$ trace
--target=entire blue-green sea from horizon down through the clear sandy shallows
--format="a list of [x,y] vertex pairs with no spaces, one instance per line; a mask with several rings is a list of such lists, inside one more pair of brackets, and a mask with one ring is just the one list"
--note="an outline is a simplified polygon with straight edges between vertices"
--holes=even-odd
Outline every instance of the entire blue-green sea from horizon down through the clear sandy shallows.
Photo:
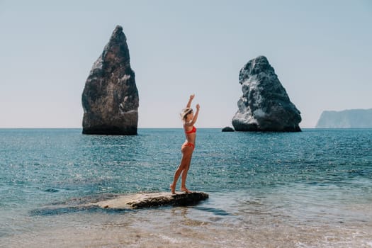
[[169,191],[183,130],[138,133],[0,129],[0,247],[372,247],[371,129],[199,128],[187,186],[208,200],[84,207]]

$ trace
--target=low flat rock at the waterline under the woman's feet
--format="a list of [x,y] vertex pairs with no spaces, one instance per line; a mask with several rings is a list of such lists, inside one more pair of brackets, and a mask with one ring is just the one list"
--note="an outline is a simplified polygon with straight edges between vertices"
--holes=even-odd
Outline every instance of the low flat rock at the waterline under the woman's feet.
[[170,192],[136,193],[100,201],[94,205],[112,209],[151,208],[161,205],[192,205],[208,197],[208,193],[203,192],[177,193],[175,195]]

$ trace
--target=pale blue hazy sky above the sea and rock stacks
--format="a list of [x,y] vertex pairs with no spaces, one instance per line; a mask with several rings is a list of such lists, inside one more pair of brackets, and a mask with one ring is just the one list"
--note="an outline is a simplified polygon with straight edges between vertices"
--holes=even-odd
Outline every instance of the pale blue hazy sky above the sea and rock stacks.
[[372,108],[372,1],[0,0],[0,128],[81,128],[81,94],[123,26],[140,96],[139,128],[232,126],[239,70],[264,55],[300,110]]

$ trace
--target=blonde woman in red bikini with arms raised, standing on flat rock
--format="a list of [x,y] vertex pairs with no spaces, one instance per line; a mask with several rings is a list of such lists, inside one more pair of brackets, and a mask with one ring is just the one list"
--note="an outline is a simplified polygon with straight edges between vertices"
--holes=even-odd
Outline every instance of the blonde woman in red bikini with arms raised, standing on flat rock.
[[187,177],[187,171],[190,168],[191,163],[191,156],[193,155],[193,149],[195,148],[195,139],[196,139],[196,128],[193,126],[196,123],[196,120],[198,119],[198,113],[199,113],[199,104],[196,104],[196,113],[193,114],[193,109],[191,108],[191,101],[193,101],[193,98],[195,97],[195,94],[191,95],[188,99],[188,103],[186,108],[181,113],[182,121],[184,122],[184,130],[186,135],[186,141],[184,142],[184,145],[181,147],[182,152],[182,159],[181,164],[179,164],[179,168],[176,169],[176,172],[174,173],[174,180],[173,184],[170,185],[171,193],[176,193],[176,184],[177,180],[179,179],[179,176],[181,176],[181,191],[184,191],[186,193],[191,193],[186,188],[186,177]]

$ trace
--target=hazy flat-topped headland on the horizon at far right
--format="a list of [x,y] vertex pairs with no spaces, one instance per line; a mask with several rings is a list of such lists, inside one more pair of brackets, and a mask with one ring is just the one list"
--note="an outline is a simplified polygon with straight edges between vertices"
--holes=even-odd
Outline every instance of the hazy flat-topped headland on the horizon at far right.
[[372,128],[372,108],[323,111],[315,128]]

